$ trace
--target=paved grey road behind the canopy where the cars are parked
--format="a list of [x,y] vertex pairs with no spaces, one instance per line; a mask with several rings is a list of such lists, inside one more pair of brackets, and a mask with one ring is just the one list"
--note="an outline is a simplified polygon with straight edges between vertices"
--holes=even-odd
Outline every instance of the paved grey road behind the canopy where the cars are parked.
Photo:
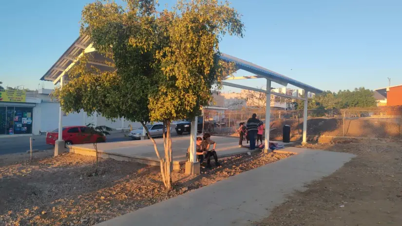
[[[176,132],[172,131],[172,136],[176,135],[177,135]],[[32,146],[34,150],[53,149],[52,145],[46,144],[45,135],[37,135],[33,136],[33,138],[34,141],[32,142]],[[107,142],[128,141],[128,140],[131,140],[131,138],[125,137],[124,133],[122,132],[115,132],[107,137]],[[0,155],[26,152],[28,150],[29,150],[29,136],[0,138]]]

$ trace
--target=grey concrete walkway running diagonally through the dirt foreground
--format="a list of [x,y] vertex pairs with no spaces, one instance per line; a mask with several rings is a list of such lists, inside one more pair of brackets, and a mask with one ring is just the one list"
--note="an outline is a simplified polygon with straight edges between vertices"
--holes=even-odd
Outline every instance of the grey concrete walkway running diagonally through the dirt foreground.
[[341,168],[353,154],[286,148],[297,153],[184,193],[169,200],[141,208],[98,226],[248,226],[268,217],[295,190],[328,176]]

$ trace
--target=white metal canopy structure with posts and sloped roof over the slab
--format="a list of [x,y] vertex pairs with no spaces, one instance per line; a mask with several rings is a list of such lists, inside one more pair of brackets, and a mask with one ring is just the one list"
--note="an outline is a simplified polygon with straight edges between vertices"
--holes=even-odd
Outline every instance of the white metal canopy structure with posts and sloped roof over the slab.
[[[114,70],[113,67],[109,66],[108,62],[112,60],[106,58],[96,52],[96,49],[92,46],[92,42],[88,36],[83,36],[77,38],[77,40],[63,53],[61,57],[58,58],[55,64],[43,75],[40,80],[45,81],[53,81],[54,84],[60,83],[60,86],[63,86],[63,80],[65,80],[65,75],[68,75],[68,71],[74,67],[74,65],[79,61],[80,57],[88,54],[89,58],[89,66],[95,66],[96,68],[106,71],[106,70]],[[268,70],[264,67],[258,66],[246,60],[233,57],[227,54],[221,53],[218,57],[227,62],[233,62],[237,68],[237,70],[245,70],[254,75],[252,76],[237,76],[237,77],[227,77],[222,81],[224,86],[230,86],[245,90],[251,90],[256,92],[266,93],[267,96],[277,95],[281,97],[291,98],[291,99],[300,99],[304,100],[304,117],[303,117],[303,143],[307,141],[307,93],[320,94],[323,91],[307,85],[305,83],[299,82],[295,79],[289,78],[285,75],[281,75],[279,73]],[[265,78],[267,81],[266,90],[248,87],[240,84],[233,84],[228,82],[229,80],[238,80],[238,79],[254,79],[254,78]],[[287,86],[291,84],[293,86],[299,87],[304,90],[304,96],[291,96],[287,94],[279,94],[271,92],[271,82],[278,83],[283,86]],[[270,101],[266,102],[266,125],[270,125]],[[62,140],[62,111],[60,106],[59,111],[59,141]],[[197,163],[197,157],[195,153],[196,149],[196,135],[197,135],[197,117],[191,122],[191,141],[190,141],[190,163]],[[269,150],[269,129],[265,130],[265,149]],[[186,164],[187,167],[187,164]],[[187,169],[186,169],[187,171]]]

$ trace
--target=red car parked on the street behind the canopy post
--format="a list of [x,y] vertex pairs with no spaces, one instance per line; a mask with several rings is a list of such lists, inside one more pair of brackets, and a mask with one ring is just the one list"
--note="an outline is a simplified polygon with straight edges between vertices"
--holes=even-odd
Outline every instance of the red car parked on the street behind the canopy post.
[[[93,134],[92,137],[86,138],[91,134],[88,133],[89,129],[86,126],[66,126],[63,127],[63,140],[66,142],[66,145],[72,144],[86,144],[86,143],[100,143],[105,142],[106,137]],[[58,139],[58,129],[53,132],[48,132],[46,134],[46,144],[55,145],[56,140]]]

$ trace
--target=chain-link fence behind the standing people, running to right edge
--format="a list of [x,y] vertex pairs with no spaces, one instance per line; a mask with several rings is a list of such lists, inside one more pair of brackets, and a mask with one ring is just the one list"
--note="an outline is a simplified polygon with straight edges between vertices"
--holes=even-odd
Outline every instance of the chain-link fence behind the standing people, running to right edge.
[[[348,136],[402,139],[402,111],[375,110],[308,110],[307,135]],[[253,113],[265,120],[262,109],[206,111],[204,120],[209,131],[222,135],[237,135],[241,122],[247,122]],[[303,134],[303,111],[271,109],[270,139],[281,140],[285,125],[290,126],[291,140],[299,140]]]

